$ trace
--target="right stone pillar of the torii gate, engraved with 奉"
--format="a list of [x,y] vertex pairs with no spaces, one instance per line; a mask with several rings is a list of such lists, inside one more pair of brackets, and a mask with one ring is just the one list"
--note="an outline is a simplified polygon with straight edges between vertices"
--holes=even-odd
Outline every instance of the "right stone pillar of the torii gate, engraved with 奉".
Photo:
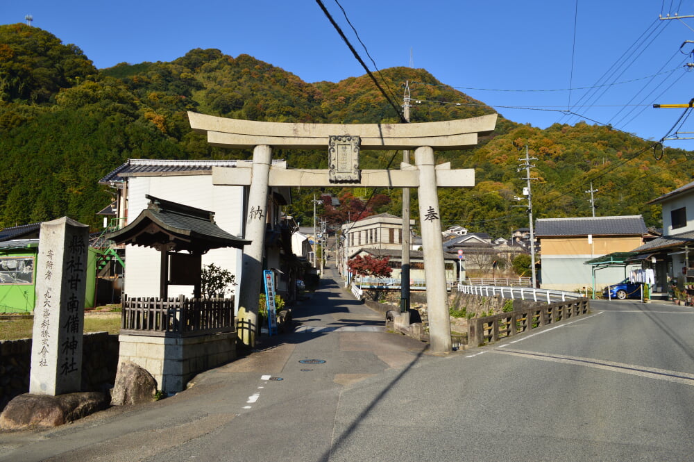
[[427,284],[427,312],[429,315],[429,341],[433,352],[450,352],[450,320],[446,292],[446,269],[441,242],[441,213],[437,194],[434,149],[418,147],[414,163],[419,169],[419,220],[422,231],[424,276]]

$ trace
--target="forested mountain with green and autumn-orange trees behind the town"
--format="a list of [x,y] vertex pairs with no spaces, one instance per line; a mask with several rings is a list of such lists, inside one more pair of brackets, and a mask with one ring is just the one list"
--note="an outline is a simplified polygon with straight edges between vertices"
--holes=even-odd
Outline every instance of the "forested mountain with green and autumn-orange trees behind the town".
[[[489,114],[480,101],[447,86],[425,69],[394,67],[376,74],[401,101],[403,83],[422,101],[412,122]],[[450,101],[461,103],[449,104]],[[368,76],[306,83],[248,55],[194,49],[171,63],[120,64],[96,69],[83,51],[40,28],[0,26],[0,226],[68,215],[99,226],[94,215],[110,201],[98,181],[128,158],[249,158],[251,151],[210,147],[193,133],[186,111],[272,122],[395,123],[398,117]],[[604,126],[555,124],[548,129],[499,118],[496,133],[471,151],[437,152],[455,168],[475,168],[475,188],[439,190],[444,227],[492,236],[527,226],[519,203],[525,185],[518,158],[536,157],[535,217],[643,214],[660,226],[659,208],[645,203],[691,181],[691,152],[666,149],[656,160],[650,144]],[[522,151],[519,151],[522,149]],[[289,167],[327,167],[326,151],[278,151]],[[363,168],[398,167],[398,151],[365,151]],[[400,214],[400,190],[340,190],[361,195],[374,212]],[[294,191],[287,213],[310,223],[316,190]],[[391,202],[383,199],[391,197]],[[413,193],[416,201],[416,194]],[[523,204],[523,203],[521,203]],[[373,205],[373,206],[372,206]],[[416,204],[412,206],[416,215]],[[416,217],[416,216],[415,216]]]

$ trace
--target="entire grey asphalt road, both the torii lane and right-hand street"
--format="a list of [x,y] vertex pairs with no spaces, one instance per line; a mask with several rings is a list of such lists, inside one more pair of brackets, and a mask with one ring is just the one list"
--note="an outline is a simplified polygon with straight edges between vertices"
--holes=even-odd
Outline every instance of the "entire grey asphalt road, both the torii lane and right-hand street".
[[0,434],[0,461],[694,460],[694,310],[592,306],[435,356],[328,283],[296,333],[176,397]]

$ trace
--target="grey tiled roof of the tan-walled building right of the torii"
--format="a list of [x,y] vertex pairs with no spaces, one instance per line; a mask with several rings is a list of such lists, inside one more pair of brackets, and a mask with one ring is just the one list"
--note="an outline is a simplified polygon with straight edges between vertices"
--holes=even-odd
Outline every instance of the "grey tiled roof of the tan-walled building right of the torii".
[[643,235],[648,232],[641,215],[623,217],[541,218],[536,237]]

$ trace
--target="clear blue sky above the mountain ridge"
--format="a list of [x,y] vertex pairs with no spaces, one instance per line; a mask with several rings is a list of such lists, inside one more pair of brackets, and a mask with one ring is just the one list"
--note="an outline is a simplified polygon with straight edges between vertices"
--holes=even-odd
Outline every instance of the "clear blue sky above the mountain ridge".
[[[323,3],[375,70],[335,0]],[[694,74],[685,66],[694,63],[688,54],[694,44],[680,49],[694,40],[694,19],[659,20],[694,15],[692,1],[340,4],[378,69],[413,63],[514,122],[544,128],[587,118],[653,140],[673,125],[694,132],[694,117],[675,124],[683,109],[651,107],[694,97]],[[33,26],[78,45],[99,68],[171,61],[190,49],[217,48],[230,56],[249,54],[307,82],[365,73],[312,0],[0,3],[0,24],[25,22],[28,14]],[[603,86],[586,89],[596,84]],[[694,150],[694,140],[666,145]]]

